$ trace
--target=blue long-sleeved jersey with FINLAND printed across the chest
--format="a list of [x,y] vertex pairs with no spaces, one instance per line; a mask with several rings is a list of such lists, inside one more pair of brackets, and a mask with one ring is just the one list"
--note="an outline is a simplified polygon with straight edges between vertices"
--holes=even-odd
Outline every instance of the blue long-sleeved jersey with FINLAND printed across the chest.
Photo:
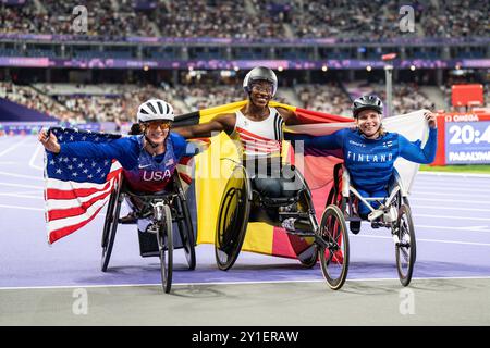
[[411,142],[397,133],[385,133],[378,139],[367,139],[359,132],[348,128],[319,137],[289,135],[287,139],[304,140],[305,148],[342,149],[353,185],[372,192],[385,189],[399,157],[412,162],[431,163],[436,157],[437,129],[430,128],[424,149],[420,148],[420,140]]

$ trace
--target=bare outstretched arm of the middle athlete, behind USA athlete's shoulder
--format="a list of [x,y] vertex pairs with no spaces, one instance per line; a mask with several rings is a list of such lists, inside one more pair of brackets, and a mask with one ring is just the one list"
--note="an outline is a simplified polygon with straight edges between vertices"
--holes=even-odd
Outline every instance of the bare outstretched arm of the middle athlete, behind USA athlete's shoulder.
[[211,137],[217,132],[226,132],[232,134],[235,127],[235,114],[226,113],[213,117],[209,122],[196,124],[192,126],[182,126],[172,128],[186,139]]

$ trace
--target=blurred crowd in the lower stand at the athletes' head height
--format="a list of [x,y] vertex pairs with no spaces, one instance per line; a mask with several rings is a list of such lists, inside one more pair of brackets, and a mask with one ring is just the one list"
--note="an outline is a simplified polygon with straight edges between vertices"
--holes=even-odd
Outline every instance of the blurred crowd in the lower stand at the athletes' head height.
[[[281,89],[282,91],[285,90],[285,88]],[[138,105],[151,98],[170,102],[177,115],[247,98],[242,88],[230,85],[182,85],[179,88],[170,88],[168,85],[160,87],[152,85],[110,85],[107,90],[102,88],[100,91],[99,88],[97,94],[94,92],[90,85],[78,85],[76,90],[73,94],[60,94],[57,88],[49,84],[37,84],[32,87],[0,83],[0,98],[74,123],[134,122]],[[293,95],[289,96],[293,96],[294,98],[287,99],[284,95],[279,95],[274,100],[309,110],[346,117],[352,116],[351,98],[335,83],[297,85],[291,91]],[[385,100],[383,88],[373,86],[372,92]],[[396,85],[393,92],[394,114],[408,113],[419,109],[434,110],[433,102],[420,92],[415,84]]]

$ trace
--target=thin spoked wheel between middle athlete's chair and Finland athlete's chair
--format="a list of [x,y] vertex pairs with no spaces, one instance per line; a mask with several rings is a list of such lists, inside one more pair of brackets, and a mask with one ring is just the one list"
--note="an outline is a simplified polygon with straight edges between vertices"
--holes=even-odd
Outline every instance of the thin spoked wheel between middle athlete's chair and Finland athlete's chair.
[[327,207],[321,216],[320,236],[329,245],[320,247],[320,264],[323,277],[333,290],[340,289],[348,272],[348,235],[345,219],[339,207]]

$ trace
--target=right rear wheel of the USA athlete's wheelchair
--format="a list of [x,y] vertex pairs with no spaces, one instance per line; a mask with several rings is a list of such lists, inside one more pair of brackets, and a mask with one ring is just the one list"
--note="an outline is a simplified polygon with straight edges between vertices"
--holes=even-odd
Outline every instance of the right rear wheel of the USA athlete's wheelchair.
[[193,221],[187,203],[181,196],[175,200],[175,209],[177,215],[182,215],[182,219],[179,219],[177,221],[177,226],[185,252],[185,259],[187,260],[188,269],[194,270],[196,268],[196,241],[194,237]]

